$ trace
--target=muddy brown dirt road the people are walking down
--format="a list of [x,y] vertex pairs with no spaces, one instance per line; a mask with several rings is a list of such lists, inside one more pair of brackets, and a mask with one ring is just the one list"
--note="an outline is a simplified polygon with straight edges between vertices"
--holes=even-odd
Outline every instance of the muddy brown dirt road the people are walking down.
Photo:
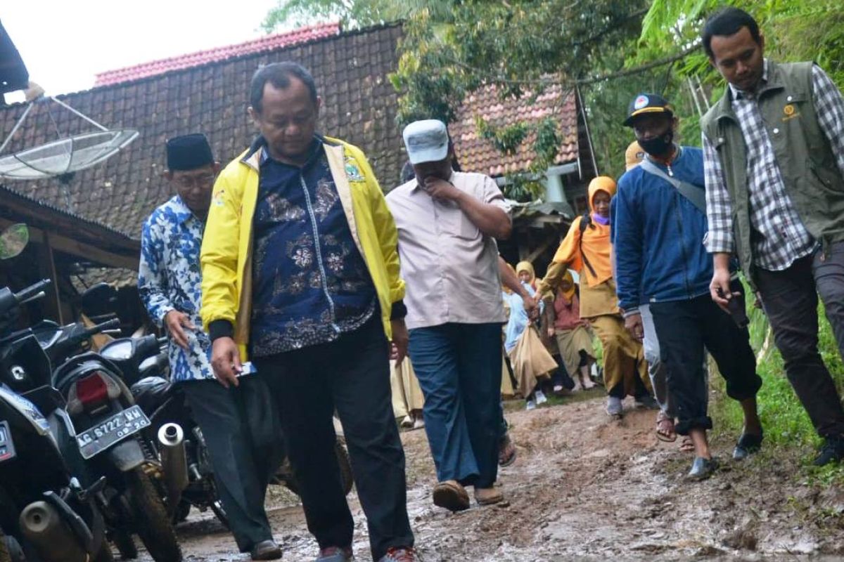
[[[808,484],[798,452],[762,452],[732,463],[732,439],[717,439],[722,470],[684,482],[690,456],[657,442],[654,412],[603,413],[603,400],[507,414],[517,463],[500,474],[506,503],[451,514],[430,503],[435,482],[425,431],[403,433],[408,507],[425,562],[560,560],[842,559],[844,493]],[[625,408],[629,404],[625,403]],[[311,562],[316,544],[295,497],[270,500],[284,560]],[[360,506],[353,501],[354,550],[369,560]],[[188,560],[247,560],[213,517],[194,514],[178,529]]]

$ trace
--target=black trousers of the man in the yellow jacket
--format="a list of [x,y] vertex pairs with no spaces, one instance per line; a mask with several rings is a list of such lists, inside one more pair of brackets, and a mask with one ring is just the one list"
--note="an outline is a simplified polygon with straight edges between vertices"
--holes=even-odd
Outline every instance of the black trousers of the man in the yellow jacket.
[[363,327],[331,343],[253,362],[278,400],[308,530],[320,548],[350,546],[354,532],[334,453],[335,409],[369,526],[372,559],[391,547],[413,546],[381,316],[376,313]]

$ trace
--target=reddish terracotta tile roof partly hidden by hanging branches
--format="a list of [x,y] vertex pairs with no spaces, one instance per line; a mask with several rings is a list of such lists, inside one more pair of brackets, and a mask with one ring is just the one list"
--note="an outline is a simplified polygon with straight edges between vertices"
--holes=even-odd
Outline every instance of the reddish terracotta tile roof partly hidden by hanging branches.
[[495,87],[482,88],[469,94],[457,120],[449,126],[457,160],[463,169],[494,177],[526,171],[536,158],[532,149],[535,135],[528,135],[516,153],[508,156],[500,153],[491,141],[479,136],[477,116],[499,128],[519,121],[536,124],[553,117],[560,124],[558,134],[561,137],[555,164],[577,159],[577,104],[575,94],[569,90],[548,88],[533,100],[529,95],[521,99],[500,99]]

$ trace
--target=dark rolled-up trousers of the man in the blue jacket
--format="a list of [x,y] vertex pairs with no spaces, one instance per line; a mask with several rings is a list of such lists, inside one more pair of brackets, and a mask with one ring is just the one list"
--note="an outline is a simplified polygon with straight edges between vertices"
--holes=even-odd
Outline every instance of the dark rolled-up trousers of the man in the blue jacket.
[[680,435],[712,427],[706,414],[706,350],[727,381],[730,398],[741,401],[756,395],[762,379],[756,374],[748,330],[738,329],[733,318],[709,295],[652,302],[651,313],[666,367],[668,393],[679,420],[675,429]]

